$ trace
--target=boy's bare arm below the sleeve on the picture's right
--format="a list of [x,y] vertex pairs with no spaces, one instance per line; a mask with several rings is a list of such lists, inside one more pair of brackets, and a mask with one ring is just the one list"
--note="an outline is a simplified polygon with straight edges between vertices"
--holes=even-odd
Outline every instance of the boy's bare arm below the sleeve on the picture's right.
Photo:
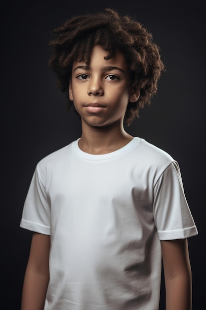
[[192,276],[187,239],[161,241],[166,310],[192,309]]

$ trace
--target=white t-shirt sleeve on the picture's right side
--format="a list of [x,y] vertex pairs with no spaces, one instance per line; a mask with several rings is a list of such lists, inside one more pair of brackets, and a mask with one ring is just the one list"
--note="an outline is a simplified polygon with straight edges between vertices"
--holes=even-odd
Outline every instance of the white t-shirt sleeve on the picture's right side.
[[184,239],[198,234],[176,161],[165,169],[155,184],[153,214],[160,240]]

